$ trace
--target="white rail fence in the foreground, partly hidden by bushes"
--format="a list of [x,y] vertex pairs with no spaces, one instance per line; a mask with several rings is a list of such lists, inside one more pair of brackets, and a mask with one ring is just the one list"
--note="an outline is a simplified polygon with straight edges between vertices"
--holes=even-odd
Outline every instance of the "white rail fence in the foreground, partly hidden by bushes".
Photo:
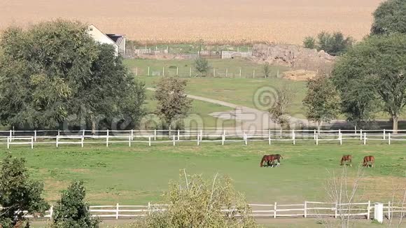
[[[365,218],[370,220],[374,218],[374,205],[370,201],[365,203],[353,204],[337,204],[304,201],[302,204],[250,204],[252,211],[251,216],[254,218],[339,218],[340,216],[349,216],[353,218]],[[125,206],[125,205],[110,205],[110,206],[90,206],[90,213],[94,217],[104,219],[121,219],[121,218],[143,218],[146,215],[167,210],[167,205],[150,204],[146,206]],[[36,218],[52,218],[53,206],[49,211],[45,212],[43,217]],[[231,214],[234,209],[224,209],[225,214]],[[27,212],[25,212],[27,213]],[[388,202],[384,204],[385,217],[403,218],[406,216],[406,204],[394,204]],[[235,216],[239,214],[234,213]],[[32,215],[26,215],[28,218],[33,218]]]

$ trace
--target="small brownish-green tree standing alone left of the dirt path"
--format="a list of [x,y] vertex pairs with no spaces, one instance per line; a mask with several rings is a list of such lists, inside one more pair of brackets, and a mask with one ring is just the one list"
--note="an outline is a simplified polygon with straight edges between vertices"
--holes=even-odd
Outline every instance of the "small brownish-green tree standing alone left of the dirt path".
[[165,120],[169,129],[174,120],[186,117],[191,108],[192,101],[184,93],[186,85],[186,80],[175,77],[162,78],[157,85],[157,113]]

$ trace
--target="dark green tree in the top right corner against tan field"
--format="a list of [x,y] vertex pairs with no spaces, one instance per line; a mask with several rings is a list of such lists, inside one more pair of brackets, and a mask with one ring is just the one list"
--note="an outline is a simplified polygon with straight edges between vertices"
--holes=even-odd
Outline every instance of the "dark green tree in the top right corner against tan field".
[[406,1],[388,0],[382,2],[374,12],[372,35],[406,34]]

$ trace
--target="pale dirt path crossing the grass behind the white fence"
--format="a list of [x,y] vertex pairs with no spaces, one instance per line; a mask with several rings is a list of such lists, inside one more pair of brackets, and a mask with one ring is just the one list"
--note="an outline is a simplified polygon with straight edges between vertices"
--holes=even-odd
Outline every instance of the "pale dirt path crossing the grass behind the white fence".
[[[148,87],[147,90],[155,91],[156,89]],[[269,113],[266,111],[260,111],[255,108],[249,108],[246,106],[239,106],[237,104],[231,104],[225,101],[219,101],[216,99],[209,99],[207,97],[199,97],[195,95],[187,95],[190,99],[195,99],[199,101],[206,101],[211,104],[218,104],[225,107],[232,108],[231,111],[211,113],[210,115],[218,117],[224,120],[236,120],[241,122],[237,127],[237,130],[241,131],[258,131],[272,128],[279,128],[279,124],[275,124],[269,118]],[[300,124],[308,125],[309,121],[305,119],[300,119],[296,117],[290,117],[291,127],[297,127]],[[219,127],[221,128],[221,127]]]

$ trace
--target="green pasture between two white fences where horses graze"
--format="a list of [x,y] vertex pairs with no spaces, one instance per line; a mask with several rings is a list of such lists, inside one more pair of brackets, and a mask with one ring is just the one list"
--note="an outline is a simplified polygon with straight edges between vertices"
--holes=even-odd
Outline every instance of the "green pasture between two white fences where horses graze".
[[[15,146],[10,152],[27,158],[31,176],[45,183],[45,198],[51,202],[59,199],[60,191],[75,179],[85,181],[87,199],[92,205],[158,202],[168,181],[179,178],[180,169],[203,173],[207,178],[216,173],[228,175],[251,203],[323,201],[326,200],[325,180],[329,177],[326,171],[338,171],[343,154],[353,155],[351,176],[365,155],[376,158],[375,169],[363,169],[359,200],[389,201],[393,185],[406,185],[406,154],[402,144],[360,145],[359,141],[342,146],[306,142],[271,146],[263,142],[241,144],[181,143],[133,145],[132,148],[116,144],[109,148],[85,145],[85,148],[59,149],[47,145],[34,150]],[[7,150],[3,147],[1,150],[3,157]],[[283,155],[279,168],[259,167],[262,155],[269,153]]]

